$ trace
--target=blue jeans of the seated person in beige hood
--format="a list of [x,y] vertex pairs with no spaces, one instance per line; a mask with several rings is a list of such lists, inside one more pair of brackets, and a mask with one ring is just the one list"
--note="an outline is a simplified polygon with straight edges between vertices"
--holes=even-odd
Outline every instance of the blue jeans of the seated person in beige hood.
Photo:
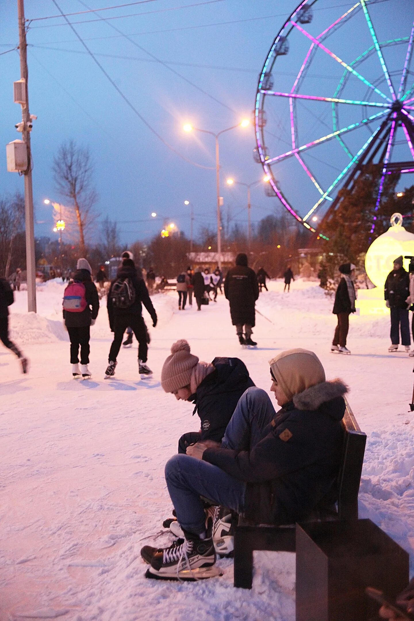
[[[267,392],[248,388],[240,397],[222,441],[222,448],[251,450],[268,433],[275,411]],[[174,455],[165,466],[165,479],[179,524],[199,535],[205,531],[204,505],[200,496],[214,504],[243,512],[246,483],[207,461]]]

